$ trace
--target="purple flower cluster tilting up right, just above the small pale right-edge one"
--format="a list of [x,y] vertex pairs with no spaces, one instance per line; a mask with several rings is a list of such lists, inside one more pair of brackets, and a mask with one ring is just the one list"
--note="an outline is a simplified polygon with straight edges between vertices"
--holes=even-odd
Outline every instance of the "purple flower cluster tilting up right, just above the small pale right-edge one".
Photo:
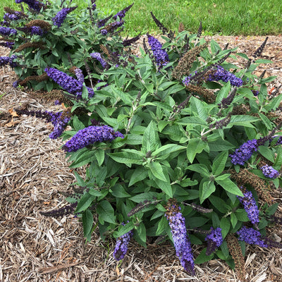
[[243,143],[238,149],[235,149],[233,154],[229,155],[229,157],[231,157],[231,163],[243,166],[245,162],[252,157],[252,153],[257,152],[257,147],[256,139]]

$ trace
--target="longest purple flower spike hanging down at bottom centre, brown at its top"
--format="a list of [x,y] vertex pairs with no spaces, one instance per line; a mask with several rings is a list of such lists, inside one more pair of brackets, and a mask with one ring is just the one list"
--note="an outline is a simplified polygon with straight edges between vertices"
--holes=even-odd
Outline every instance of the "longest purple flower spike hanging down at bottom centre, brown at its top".
[[173,244],[176,248],[176,255],[179,257],[180,263],[189,274],[195,275],[194,258],[190,240],[186,233],[185,218],[180,212],[180,207],[172,204],[166,208],[166,219],[171,227],[171,235]]

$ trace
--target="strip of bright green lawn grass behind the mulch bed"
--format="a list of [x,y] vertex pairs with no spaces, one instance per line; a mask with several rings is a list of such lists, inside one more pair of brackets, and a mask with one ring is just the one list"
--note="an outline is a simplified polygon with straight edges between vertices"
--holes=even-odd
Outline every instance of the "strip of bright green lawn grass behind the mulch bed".
[[[105,15],[117,13],[134,0],[97,0],[96,4]],[[11,6],[14,0],[2,0],[3,7]],[[197,32],[202,21],[205,35],[279,35],[282,33],[281,0],[135,0],[128,11],[125,35],[159,33],[150,16],[150,11],[166,27],[178,30],[183,23],[186,30]],[[85,0],[74,0],[79,8],[85,8]]]

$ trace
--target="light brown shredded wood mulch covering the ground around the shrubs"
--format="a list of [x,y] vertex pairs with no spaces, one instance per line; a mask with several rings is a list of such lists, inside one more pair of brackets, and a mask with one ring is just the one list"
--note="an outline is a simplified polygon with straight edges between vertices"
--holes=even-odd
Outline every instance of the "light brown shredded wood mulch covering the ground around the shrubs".
[[[237,46],[247,55],[264,41],[264,37],[214,39],[221,46],[230,42],[229,47]],[[0,49],[1,56],[7,54],[7,49]],[[281,37],[269,37],[262,58],[274,61],[266,66],[266,75],[278,75],[269,85],[278,87],[282,77]],[[189,276],[168,243],[148,244],[145,249],[131,242],[119,264],[112,256],[115,241],[103,242],[97,229],[91,243],[85,245],[82,223],[77,218],[53,219],[39,214],[67,204],[62,193],[71,192],[74,170],[68,168],[61,141],[49,139],[49,123],[17,116],[13,111],[19,107],[59,111],[60,106],[37,92],[13,88],[15,80],[11,68],[0,67],[0,281],[239,281],[220,259],[195,266],[196,276]],[[282,202],[281,192],[279,188],[271,193],[276,202]],[[282,204],[277,214],[281,216]],[[268,228],[267,235],[281,240],[281,226]],[[201,246],[193,247],[195,256],[201,250]],[[248,245],[245,267],[247,281],[282,281],[281,250]]]

